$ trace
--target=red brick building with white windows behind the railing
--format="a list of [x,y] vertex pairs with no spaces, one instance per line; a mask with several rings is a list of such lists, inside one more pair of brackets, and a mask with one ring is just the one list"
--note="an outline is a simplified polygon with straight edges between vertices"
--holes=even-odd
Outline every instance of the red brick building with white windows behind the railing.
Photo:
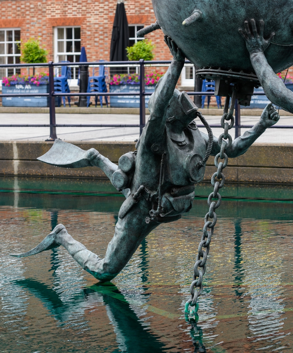
[[[125,9],[130,26],[130,44],[137,41],[137,28],[155,22],[151,0],[126,0]],[[19,62],[17,43],[30,37],[40,39],[48,50],[48,60],[79,61],[80,48],[86,48],[87,60],[110,59],[110,42],[116,0],[0,0],[0,63]],[[155,44],[155,60],[172,56],[163,43],[161,30],[146,36]],[[18,69],[0,69],[1,77]],[[193,68],[184,70],[183,85],[193,85]],[[77,70],[73,70],[77,79]]]

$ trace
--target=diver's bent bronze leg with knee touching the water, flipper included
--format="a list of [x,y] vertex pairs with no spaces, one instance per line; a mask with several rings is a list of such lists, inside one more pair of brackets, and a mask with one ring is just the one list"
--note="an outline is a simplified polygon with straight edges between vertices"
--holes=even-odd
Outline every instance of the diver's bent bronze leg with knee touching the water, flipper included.
[[148,210],[149,204],[145,199],[140,199],[123,219],[118,219],[114,237],[108,245],[104,259],[100,259],[83,244],[74,240],[61,224],[56,226],[52,233],[34,249],[11,255],[25,257],[62,245],[84,270],[98,280],[110,281],[127,264],[144,237],[159,225],[156,222],[145,223]]

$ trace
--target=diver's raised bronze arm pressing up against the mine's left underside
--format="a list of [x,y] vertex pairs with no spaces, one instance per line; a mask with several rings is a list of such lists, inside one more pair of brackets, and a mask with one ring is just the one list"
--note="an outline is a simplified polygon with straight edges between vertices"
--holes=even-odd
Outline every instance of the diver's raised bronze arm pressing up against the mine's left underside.
[[181,50],[177,47],[175,42],[170,37],[165,36],[165,42],[167,43],[173,60],[171,65],[168,67],[167,72],[156,85],[155,92],[150,97],[149,109],[150,118],[148,121],[148,134],[151,133],[153,137],[158,136],[164,131],[166,124],[165,112],[168,103],[174,93],[174,89],[180,77],[182,68],[184,66],[185,58],[181,53]]

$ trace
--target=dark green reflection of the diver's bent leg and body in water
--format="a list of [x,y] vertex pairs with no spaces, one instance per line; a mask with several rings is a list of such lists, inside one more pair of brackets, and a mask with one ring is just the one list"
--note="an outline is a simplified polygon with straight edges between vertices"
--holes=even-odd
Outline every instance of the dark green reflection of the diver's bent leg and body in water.
[[44,283],[33,279],[19,280],[14,283],[28,289],[36,298],[39,298],[59,322],[59,326],[64,325],[70,318],[74,318],[76,322],[77,313],[79,313],[79,321],[84,330],[87,324],[85,318],[81,316],[84,315],[85,310],[94,309],[96,304],[103,303],[106,306],[109,321],[114,326],[120,351],[128,353],[161,353],[165,351],[164,343],[142,326],[124,295],[111,282],[97,283],[87,287],[83,293],[75,295],[74,300],[66,304],[55,291]]

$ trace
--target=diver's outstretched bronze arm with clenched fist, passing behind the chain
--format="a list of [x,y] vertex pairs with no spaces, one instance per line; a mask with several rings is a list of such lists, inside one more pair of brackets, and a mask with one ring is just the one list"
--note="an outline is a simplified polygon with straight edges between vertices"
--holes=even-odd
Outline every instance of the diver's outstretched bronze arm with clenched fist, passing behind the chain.
[[[248,148],[253,144],[253,142],[265,132],[266,128],[276,124],[280,119],[276,108],[272,106],[272,103],[269,103],[263,110],[262,115],[260,116],[259,122],[257,122],[250,130],[246,131],[242,136],[237,137],[232,141],[231,147],[225,149],[225,154],[229,158],[235,158],[244,154]],[[203,138],[208,143],[208,136],[204,133],[201,133]],[[220,146],[218,144],[217,137],[214,136],[213,146],[211,156],[216,156],[220,152]]]

